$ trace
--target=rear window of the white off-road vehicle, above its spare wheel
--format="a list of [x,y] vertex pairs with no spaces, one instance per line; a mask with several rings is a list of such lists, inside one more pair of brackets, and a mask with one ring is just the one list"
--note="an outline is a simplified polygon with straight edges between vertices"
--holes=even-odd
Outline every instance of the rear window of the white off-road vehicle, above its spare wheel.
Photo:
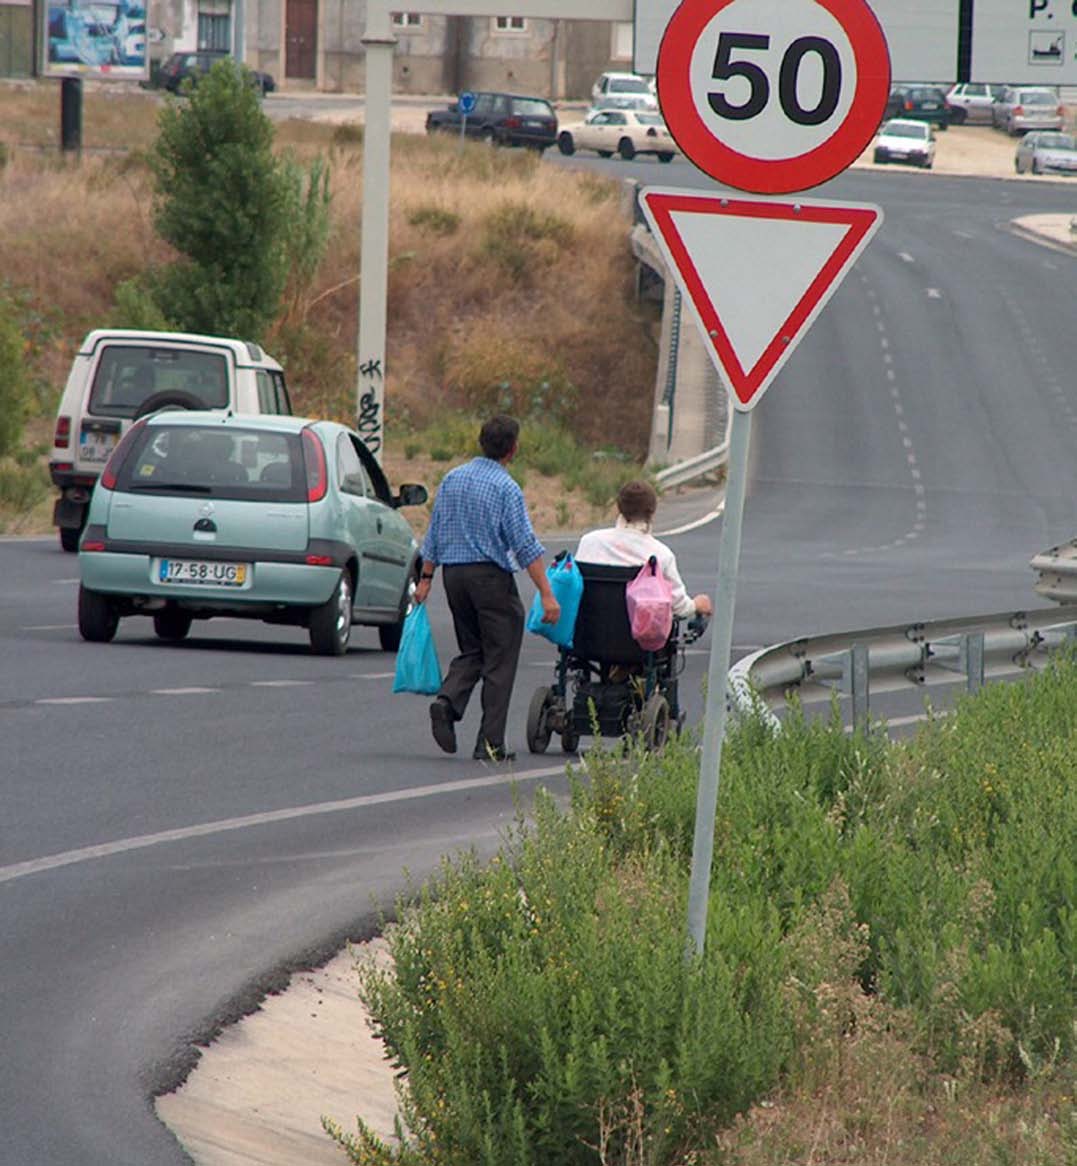
[[177,395],[174,403],[188,408],[225,408],[228,366],[224,353],[110,344],[93,374],[90,412],[105,417],[133,417],[152,396],[162,393]]

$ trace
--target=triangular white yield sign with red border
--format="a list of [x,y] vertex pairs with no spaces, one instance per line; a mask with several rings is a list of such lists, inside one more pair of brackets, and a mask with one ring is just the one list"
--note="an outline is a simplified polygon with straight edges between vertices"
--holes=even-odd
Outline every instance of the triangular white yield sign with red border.
[[738,409],[755,407],[882,223],[878,206],[648,188],[640,203]]

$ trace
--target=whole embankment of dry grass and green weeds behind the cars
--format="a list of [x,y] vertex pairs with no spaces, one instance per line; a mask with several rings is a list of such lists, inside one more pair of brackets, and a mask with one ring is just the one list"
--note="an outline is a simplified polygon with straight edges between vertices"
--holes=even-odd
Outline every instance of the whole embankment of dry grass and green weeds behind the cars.
[[[212,259],[191,252],[192,230],[204,224],[162,213],[162,182],[181,163],[203,163],[203,177],[212,169],[175,140],[192,104],[135,86],[87,86],[76,161],[57,150],[58,86],[3,89],[0,312],[22,338],[29,391],[21,437],[0,452],[0,531],[50,529],[52,420],[83,336],[101,325],[205,323],[190,309],[206,300],[192,303],[176,282],[177,272]],[[256,136],[259,108],[245,117]],[[260,302],[272,296],[274,310],[248,317],[247,338],[282,360],[297,413],[350,421],[361,127],[269,129],[273,173],[286,176],[287,229],[282,248],[266,258],[286,258],[263,273]],[[543,166],[525,150],[417,135],[394,138],[392,181],[390,478],[436,487],[474,452],[478,419],[502,408],[525,422],[516,469],[536,525],[606,517],[646,455],[657,354],[656,318],[634,295],[619,185]],[[227,305],[209,303],[220,318]]]

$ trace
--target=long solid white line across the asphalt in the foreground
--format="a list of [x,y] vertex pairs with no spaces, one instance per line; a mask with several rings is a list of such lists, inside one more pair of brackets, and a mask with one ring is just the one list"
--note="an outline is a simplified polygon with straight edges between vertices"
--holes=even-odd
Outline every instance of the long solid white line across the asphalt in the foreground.
[[435,798],[439,794],[462,793],[467,789],[488,789],[494,786],[509,785],[513,781],[533,781],[538,778],[561,777],[564,772],[564,765],[555,765],[543,770],[523,770],[520,773],[492,773],[481,778],[438,781],[430,786],[413,786],[410,789],[395,789],[383,794],[362,794],[358,798],[345,798],[340,801],[315,802],[310,806],[267,810],[262,814],[246,814],[242,817],[224,817],[216,822],[200,822],[197,826],[180,827],[175,830],[161,830],[157,834],[140,834],[132,838],[117,838],[114,842],[103,842],[96,847],[80,847],[77,850],[64,850],[57,855],[28,858],[26,862],[0,866],[0,883],[10,883],[16,878],[26,878],[27,874],[40,874],[43,871],[56,870],[58,866],[72,866],[76,863],[86,863],[93,858],[110,858],[113,855],[121,855],[128,850],[145,850],[148,847],[160,847],[167,842],[204,838],[214,834],[226,834],[231,830],[247,830],[252,827],[269,826],[274,822],[291,822],[296,819],[315,817],[321,814],[349,813],[356,809],[364,809],[367,806],[388,806],[393,802],[415,801],[420,798]]

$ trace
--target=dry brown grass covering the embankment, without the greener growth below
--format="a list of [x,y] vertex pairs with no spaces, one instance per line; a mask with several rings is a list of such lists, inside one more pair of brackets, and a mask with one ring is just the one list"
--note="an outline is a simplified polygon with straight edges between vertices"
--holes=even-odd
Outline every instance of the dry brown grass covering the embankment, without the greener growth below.
[[[79,162],[56,149],[58,85],[0,84],[0,288],[22,305],[49,426],[76,345],[115,322],[117,285],[171,258],[153,230],[143,156],[161,101],[136,86],[87,83]],[[277,321],[266,346],[288,370],[297,412],[347,420],[361,133],[309,121],[276,129],[280,148],[328,157],[332,237],[305,302]],[[386,461],[394,478],[397,466],[410,479],[429,470],[432,483],[446,468],[401,464],[408,434],[492,407],[554,417],[585,444],[642,457],[657,322],[634,300],[617,184],[525,150],[407,134],[394,138],[392,182]],[[526,490],[551,526],[596,517],[556,480],[533,473]]]

